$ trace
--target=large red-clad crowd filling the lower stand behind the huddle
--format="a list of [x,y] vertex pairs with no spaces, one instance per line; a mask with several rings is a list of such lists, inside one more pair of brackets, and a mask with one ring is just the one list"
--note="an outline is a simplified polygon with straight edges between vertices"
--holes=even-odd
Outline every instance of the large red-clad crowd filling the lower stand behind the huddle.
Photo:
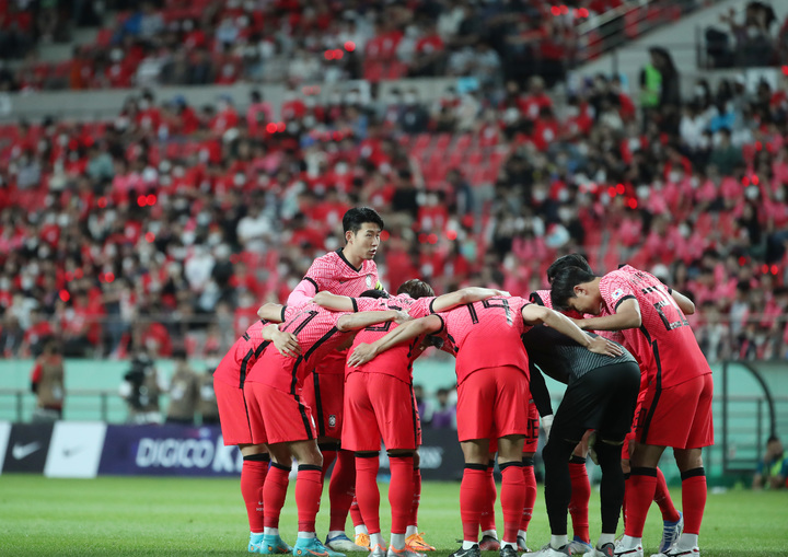
[[420,276],[526,293],[581,251],[688,293],[711,360],[788,357],[785,84],[698,82],[642,121],[636,92],[603,76],[560,109],[538,78],[432,106],[408,89],[293,95],[282,121],[256,93],[243,111],[147,92],[114,121],[4,127],[2,353],[50,335],[67,356],[221,351],[369,205],[391,289]]

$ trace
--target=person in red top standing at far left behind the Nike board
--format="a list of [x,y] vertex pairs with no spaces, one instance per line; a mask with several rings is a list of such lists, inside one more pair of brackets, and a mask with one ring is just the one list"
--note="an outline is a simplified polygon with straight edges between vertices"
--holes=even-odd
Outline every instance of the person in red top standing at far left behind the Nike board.
[[55,338],[44,341],[44,352],[35,360],[31,391],[36,395],[33,421],[55,421],[62,418],[66,374],[62,355]]

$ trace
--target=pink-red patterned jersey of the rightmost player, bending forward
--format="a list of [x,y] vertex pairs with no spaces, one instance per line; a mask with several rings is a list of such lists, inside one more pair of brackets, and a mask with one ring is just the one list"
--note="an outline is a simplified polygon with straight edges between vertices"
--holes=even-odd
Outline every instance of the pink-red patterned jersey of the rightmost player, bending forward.
[[650,385],[667,388],[711,373],[684,313],[657,277],[625,265],[602,277],[600,293],[610,314],[625,300],[640,305],[640,328],[622,333]]

